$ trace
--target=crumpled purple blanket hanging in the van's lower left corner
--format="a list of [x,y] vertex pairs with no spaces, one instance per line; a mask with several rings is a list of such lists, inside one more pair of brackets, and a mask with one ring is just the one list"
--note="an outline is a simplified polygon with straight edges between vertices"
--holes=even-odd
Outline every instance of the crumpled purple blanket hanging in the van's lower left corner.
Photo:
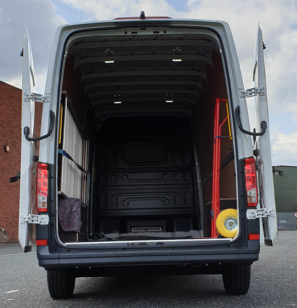
[[58,202],[58,218],[63,231],[80,231],[81,201],[76,198],[61,199]]

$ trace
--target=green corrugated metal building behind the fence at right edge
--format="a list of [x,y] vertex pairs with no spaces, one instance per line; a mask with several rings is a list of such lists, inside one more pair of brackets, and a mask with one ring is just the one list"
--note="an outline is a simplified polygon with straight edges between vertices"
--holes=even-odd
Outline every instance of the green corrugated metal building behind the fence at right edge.
[[278,229],[296,230],[297,166],[273,166],[272,172]]

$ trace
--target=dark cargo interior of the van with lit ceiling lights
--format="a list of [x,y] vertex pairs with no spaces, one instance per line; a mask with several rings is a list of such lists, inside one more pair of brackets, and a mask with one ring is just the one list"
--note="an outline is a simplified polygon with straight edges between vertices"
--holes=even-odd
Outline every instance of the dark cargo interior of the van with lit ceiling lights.
[[[215,34],[195,31],[70,38],[57,112],[61,242],[211,238],[215,102],[228,98],[227,73]],[[227,112],[222,103],[220,123]],[[237,209],[227,123],[220,137],[220,209]]]

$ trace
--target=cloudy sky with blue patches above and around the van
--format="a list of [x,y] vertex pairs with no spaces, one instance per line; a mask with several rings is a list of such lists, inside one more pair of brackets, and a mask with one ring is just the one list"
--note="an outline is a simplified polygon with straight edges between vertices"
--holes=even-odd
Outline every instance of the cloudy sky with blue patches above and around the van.
[[[35,92],[43,93],[55,29],[64,23],[116,17],[170,16],[229,23],[245,88],[252,69],[258,22],[263,31],[272,164],[297,165],[296,0],[0,0],[0,80],[21,87],[22,37],[28,28]],[[248,99],[250,113],[253,98]]]

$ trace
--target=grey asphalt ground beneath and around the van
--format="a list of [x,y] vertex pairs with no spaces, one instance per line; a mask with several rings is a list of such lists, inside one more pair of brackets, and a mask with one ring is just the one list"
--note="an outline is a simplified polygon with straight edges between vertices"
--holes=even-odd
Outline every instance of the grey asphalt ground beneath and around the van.
[[76,278],[74,295],[53,300],[34,252],[0,245],[0,307],[297,307],[297,231],[261,246],[246,295],[227,295],[221,275]]

